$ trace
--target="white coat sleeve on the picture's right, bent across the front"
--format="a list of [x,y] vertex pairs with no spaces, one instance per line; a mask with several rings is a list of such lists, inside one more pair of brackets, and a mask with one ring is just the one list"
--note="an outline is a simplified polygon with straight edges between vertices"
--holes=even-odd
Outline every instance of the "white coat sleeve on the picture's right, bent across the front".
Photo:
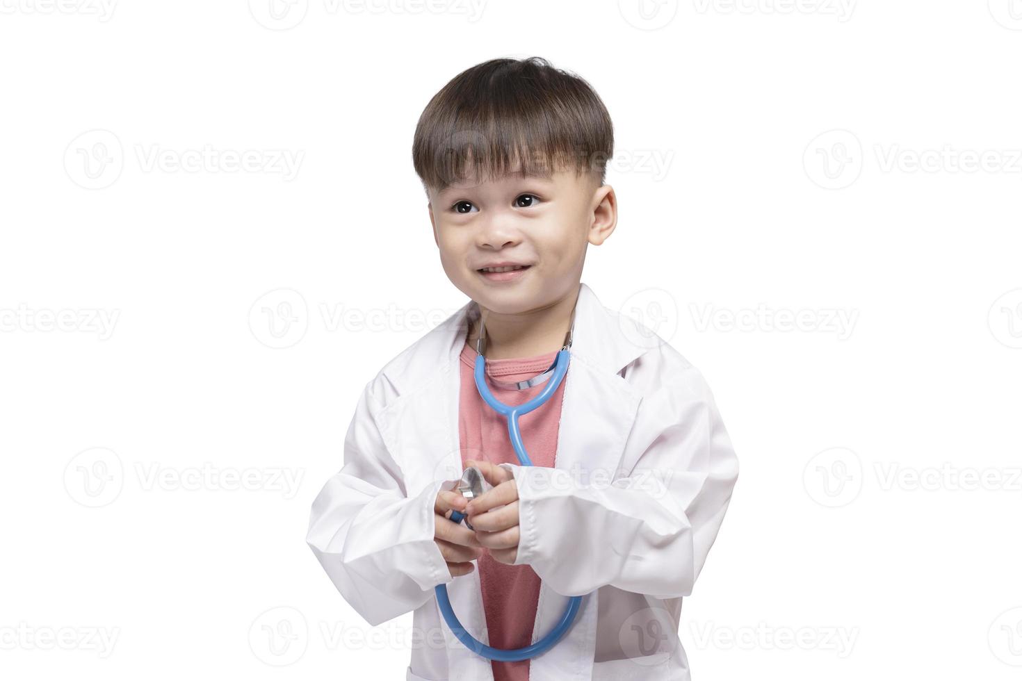
[[565,470],[502,464],[518,488],[514,565],[530,565],[557,593],[610,585],[690,595],[721,528],[738,459],[702,375],[661,348],[644,355],[638,379],[646,385],[625,446],[639,452],[629,477],[582,486]]

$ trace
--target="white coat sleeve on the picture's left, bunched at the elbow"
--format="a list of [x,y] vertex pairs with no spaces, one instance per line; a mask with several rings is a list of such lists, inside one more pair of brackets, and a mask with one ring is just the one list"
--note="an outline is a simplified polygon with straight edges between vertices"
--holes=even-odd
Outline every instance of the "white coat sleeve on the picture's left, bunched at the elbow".
[[444,481],[405,489],[372,385],[344,437],[343,468],[313,501],[306,540],[344,600],[376,626],[422,605],[453,578],[433,540]]

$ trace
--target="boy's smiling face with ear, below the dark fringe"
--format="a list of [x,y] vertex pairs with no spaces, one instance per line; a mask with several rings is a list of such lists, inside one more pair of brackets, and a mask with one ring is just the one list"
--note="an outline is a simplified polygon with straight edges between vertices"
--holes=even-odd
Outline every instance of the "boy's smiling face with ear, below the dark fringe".
[[[573,295],[587,246],[613,232],[617,203],[610,186],[573,169],[509,174],[430,191],[429,220],[448,278],[483,308],[510,314]],[[529,266],[478,272],[497,262]]]

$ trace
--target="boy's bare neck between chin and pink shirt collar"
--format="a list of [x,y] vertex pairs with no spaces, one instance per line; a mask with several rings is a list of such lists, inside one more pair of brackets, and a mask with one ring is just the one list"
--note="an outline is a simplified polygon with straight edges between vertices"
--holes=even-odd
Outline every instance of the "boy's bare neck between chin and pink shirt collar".
[[[543,307],[524,312],[502,314],[479,305],[486,325],[483,355],[486,359],[506,359],[560,350],[571,328],[571,310],[578,300],[579,288]],[[479,321],[474,320],[468,330],[468,342],[473,348],[478,337]]]

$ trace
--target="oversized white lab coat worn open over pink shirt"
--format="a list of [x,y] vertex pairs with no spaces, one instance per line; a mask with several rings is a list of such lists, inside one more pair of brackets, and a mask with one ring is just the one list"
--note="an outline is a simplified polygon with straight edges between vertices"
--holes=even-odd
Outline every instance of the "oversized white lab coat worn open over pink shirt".
[[[414,611],[412,681],[493,680],[490,661],[451,633],[433,591],[447,584],[462,626],[489,643],[478,564],[452,578],[433,541],[436,494],[462,472],[459,353],[474,305],[369,381],[343,468],[309,524],[316,557],[370,625]],[[556,468],[502,464],[518,486],[515,565],[542,579],[531,640],[552,629],[568,596],[584,596],[567,634],[531,660],[529,678],[688,680],[681,601],[724,520],[738,460],[699,372],[584,283],[570,351]]]

